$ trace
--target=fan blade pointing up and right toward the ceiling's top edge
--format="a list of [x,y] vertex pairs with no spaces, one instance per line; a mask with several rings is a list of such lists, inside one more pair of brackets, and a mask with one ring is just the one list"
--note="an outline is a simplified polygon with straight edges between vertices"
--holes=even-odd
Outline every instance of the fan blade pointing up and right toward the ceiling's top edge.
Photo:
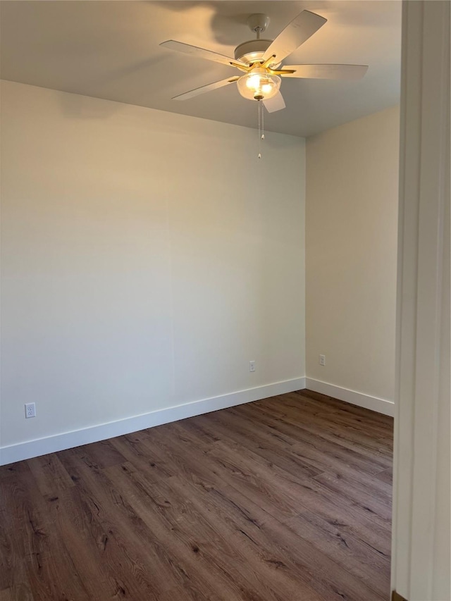
[[302,11],[291,23],[288,23],[271,46],[268,47],[263,60],[266,61],[271,55],[275,55],[276,60],[274,63],[280,63],[285,56],[288,56],[288,54],[299,48],[301,44],[304,44],[326,21],[327,19],[316,15],[316,13]]

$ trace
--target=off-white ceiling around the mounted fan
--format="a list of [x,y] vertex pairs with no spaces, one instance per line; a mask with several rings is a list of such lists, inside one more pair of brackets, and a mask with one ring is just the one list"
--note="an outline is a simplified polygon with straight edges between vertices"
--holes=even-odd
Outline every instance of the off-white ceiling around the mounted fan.
[[228,85],[186,101],[171,97],[240,73],[159,47],[166,39],[233,56],[266,13],[273,39],[307,8],[328,19],[285,64],[369,65],[360,81],[282,80],[286,109],[266,130],[308,136],[397,104],[400,0],[1,1],[1,77],[6,80],[257,126],[257,103]]

